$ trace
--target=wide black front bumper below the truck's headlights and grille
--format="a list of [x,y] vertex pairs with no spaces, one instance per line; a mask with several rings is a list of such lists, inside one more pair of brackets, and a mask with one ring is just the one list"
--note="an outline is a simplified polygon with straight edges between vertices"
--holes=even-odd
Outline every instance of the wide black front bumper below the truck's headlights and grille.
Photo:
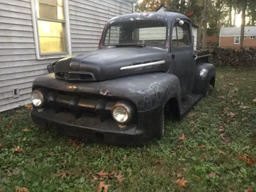
[[[147,114],[147,113],[146,113]],[[150,113],[151,114],[151,113]],[[112,119],[101,121],[96,116],[81,116],[76,118],[73,113],[58,112],[47,109],[38,112],[32,110],[32,120],[38,126],[50,128],[57,132],[82,139],[100,140],[102,142],[120,145],[140,145],[152,137],[152,129],[147,126],[130,124],[125,130],[118,128],[118,123]],[[142,117],[144,120],[146,116]]]

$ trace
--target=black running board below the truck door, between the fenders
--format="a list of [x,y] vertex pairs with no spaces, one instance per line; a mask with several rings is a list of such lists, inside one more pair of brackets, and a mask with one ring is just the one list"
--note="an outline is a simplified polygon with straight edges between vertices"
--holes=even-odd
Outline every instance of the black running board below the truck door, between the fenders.
[[188,112],[203,98],[202,94],[189,94],[181,99],[180,116],[184,118]]

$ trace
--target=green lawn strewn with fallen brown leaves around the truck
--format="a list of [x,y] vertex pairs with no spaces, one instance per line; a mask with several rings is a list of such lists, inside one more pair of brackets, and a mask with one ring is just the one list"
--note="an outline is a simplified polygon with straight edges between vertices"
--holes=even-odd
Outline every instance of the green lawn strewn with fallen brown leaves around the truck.
[[[256,191],[255,165],[238,159],[238,154],[256,157],[256,68],[219,68],[216,77],[216,88],[190,115],[167,122],[163,140],[140,147],[76,141],[80,147],[72,148],[68,137],[35,126],[28,109],[0,114],[2,191],[26,187],[30,192],[96,192],[99,181],[94,176],[104,167],[125,178],[121,183],[115,177],[104,178],[111,185],[109,192],[229,192],[244,191],[248,186]],[[230,112],[236,116],[232,118]],[[182,134],[187,136],[183,142],[179,140]],[[199,148],[202,144],[205,147]],[[22,152],[12,150],[17,146]],[[63,172],[66,178],[62,178]],[[179,172],[188,181],[186,187],[175,184]],[[214,172],[216,176],[206,177]]]

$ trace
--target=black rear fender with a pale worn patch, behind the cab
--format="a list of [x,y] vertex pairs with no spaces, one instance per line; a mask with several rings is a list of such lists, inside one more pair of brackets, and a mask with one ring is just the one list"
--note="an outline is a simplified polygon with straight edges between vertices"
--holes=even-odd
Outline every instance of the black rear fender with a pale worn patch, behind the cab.
[[196,64],[193,93],[205,94],[207,86],[212,78],[215,79],[215,76],[216,67],[213,64],[203,62]]

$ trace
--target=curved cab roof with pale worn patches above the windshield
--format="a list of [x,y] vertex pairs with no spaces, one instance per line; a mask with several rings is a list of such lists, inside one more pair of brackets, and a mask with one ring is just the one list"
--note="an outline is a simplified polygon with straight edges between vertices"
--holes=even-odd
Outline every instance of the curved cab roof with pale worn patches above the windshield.
[[134,21],[134,20],[160,20],[160,21],[170,21],[175,18],[187,19],[190,20],[183,14],[176,12],[142,12],[142,13],[131,13],[116,16],[108,21],[107,24],[125,22],[125,21]]

